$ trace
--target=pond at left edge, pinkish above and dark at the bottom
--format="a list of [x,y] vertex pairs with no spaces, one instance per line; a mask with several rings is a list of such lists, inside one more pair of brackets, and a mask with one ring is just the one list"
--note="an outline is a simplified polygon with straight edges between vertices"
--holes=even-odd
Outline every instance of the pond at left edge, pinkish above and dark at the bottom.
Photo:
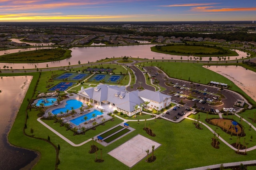
[[7,135],[16,118],[32,76],[2,77],[0,79],[0,169],[17,170],[29,164],[37,154],[8,143]]

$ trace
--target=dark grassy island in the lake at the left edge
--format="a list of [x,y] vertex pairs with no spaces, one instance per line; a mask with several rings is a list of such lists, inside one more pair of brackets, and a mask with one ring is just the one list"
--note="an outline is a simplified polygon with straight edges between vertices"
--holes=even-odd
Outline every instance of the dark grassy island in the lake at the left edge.
[[0,56],[0,62],[5,63],[42,63],[48,61],[59,61],[71,57],[69,49],[37,49]]

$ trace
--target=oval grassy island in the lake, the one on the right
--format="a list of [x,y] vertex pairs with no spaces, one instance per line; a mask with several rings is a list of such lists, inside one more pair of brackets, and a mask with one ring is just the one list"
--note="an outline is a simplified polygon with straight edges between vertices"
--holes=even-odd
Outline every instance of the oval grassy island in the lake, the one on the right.
[[172,55],[194,55],[200,57],[210,56],[235,56],[236,52],[231,51],[226,47],[220,47],[216,45],[204,45],[204,44],[188,44],[184,45],[156,45],[151,47],[151,51],[166,53]]

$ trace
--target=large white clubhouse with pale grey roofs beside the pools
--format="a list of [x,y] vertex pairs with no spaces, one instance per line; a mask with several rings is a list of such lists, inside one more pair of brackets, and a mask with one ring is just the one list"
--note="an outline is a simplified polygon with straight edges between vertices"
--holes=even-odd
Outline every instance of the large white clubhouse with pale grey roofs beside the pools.
[[171,104],[171,96],[164,95],[159,91],[126,91],[125,86],[99,84],[96,87],[88,87],[78,92],[79,99],[86,102],[110,104],[116,107],[118,112],[122,112],[129,117],[142,111],[142,106],[147,106],[148,110],[156,109],[160,111]]

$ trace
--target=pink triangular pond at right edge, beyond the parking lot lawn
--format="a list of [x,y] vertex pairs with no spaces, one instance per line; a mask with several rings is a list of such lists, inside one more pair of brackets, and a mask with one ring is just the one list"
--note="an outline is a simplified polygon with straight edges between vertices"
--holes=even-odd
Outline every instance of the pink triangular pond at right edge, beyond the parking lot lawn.
[[206,68],[227,77],[256,101],[256,73],[254,71],[235,65],[211,66]]

